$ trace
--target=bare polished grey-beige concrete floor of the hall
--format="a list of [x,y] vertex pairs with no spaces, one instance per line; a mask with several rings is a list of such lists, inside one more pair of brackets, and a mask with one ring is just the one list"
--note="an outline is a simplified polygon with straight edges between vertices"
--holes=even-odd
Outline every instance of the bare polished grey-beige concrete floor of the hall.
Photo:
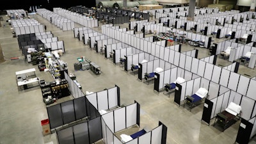
[[[4,17],[4,16],[3,16]],[[31,18],[38,20],[47,26],[47,31],[52,31],[58,40],[63,40],[65,53],[61,60],[68,63],[68,72],[76,75],[77,81],[81,84],[83,92],[99,92],[104,88],[120,87],[121,104],[128,105],[136,100],[141,106],[141,127],[154,129],[158,122],[163,122],[168,127],[167,144],[182,143],[234,143],[240,122],[232,125],[225,132],[221,132],[212,124],[210,126],[201,122],[203,105],[188,111],[182,106],[173,102],[174,93],[170,97],[163,92],[154,92],[154,84],[145,84],[138,81],[138,76],[125,72],[124,68],[114,65],[112,61],[106,60],[102,54],[89,49],[87,45],[74,38],[73,31],[62,31],[52,25],[49,21],[39,15],[31,15]],[[41,120],[47,118],[46,106],[42,99],[39,87],[18,91],[15,72],[28,68],[36,68],[36,76],[45,81],[53,81],[49,72],[40,72],[37,65],[31,65],[24,60],[19,50],[17,38],[12,37],[10,26],[1,21],[0,44],[4,52],[5,62],[0,63],[0,144],[56,144],[56,134],[43,136]],[[128,25],[123,25],[128,26]],[[75,27],[81,27],[75,24]],[[94,28],[100,30],[100,28]],[[182,45],[182,51],[188,51],[195,47]],[[207,49],[199,49],[199,57],[208,55]],[[90,70],[75,71],[74,63],[77,58],[85,56],[100,66],[102,73],[95,76]],[[10,58],[19,57],[19,60]],[[227,60],[218,58],[218,65],[230,64]],[[256,76],[253,69],[244,66],[239,67],[239,74]],[[72,97],[58,99],[58,102],[70,100]],[[102,142],[99,142],[102,143]],[[255,143],[251,141],[250,143]]]

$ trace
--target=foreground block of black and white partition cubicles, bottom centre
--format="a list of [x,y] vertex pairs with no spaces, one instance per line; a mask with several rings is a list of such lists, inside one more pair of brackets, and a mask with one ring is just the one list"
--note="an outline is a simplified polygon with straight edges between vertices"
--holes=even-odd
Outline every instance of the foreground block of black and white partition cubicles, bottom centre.
[[[65,72],[72,100],[47,107],[50,127],[56,131],[58,143],[166,143],[167,127],[151,129],[140,125],[140,104],[120,106],[120,88],[105,89],[85,95]],[[78,122],[77,124],[72,124]],[[137,125],[131,134],[122,133]]]

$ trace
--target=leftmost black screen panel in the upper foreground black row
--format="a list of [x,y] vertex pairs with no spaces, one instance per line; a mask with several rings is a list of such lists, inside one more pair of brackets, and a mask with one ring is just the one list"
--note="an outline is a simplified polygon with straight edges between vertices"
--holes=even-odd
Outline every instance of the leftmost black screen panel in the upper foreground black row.
[[63,125],[60,104],[50,106],[47,108],[51,129]]

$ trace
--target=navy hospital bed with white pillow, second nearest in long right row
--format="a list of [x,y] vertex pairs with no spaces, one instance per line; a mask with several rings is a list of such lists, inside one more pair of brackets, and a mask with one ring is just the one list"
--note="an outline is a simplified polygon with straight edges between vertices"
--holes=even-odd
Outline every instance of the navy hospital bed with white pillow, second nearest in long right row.
[[191,111],[192,108],[200,104],[200,102],[202,102],[202,100],[204,100],[205,97],[207,97],[207,94],[208,90],[206,90],[205,88],[199,88],[195,94],[191,96],[187,95],[185,97],[184,107],[185,105],[188,105],[189,111]]

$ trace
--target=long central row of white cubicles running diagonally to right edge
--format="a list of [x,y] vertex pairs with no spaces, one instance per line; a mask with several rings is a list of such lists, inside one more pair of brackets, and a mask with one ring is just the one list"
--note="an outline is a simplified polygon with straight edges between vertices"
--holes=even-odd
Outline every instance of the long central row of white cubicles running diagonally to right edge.
[[[81,31],[88,31],[88,29]],[[76,32],[74,31],[74,33]],[[255,86],[256,81],[237,74],[239,63],[234,62],[227,67],[219,67],[214,65],[216,55],[198,60],[196,50],[180,53],[180,45],[165,47],[164,41],[152,42],[150,37],[130,36],[127,31],[122,31],[111,25],[102,26],[102,35],[106,35],[105,39],[102,40],[110,37],[119,41],[112,40],[113,44],[106,44],[106,47],[110,47],[111,51],[115,53],[114,58],[116,58],[113,61],[118,61],[118,58],[124,56],[127,70],[130,70],[131,67],[129,66],[132,64],[139,65],[138,68],[141,72],[138,73],[138,77],[141,75],[141,79],[143,79],[145,73],[154,72],[159,67],[163,69],[161,72],[155,71],[154,90],[160,92],[163,90],[164,84],[172,83],[177,77],[183,77],[186,81],[179,84],[178,90],[175,90],[175,102],[181,104],[187,95],[192,95],[198,88],[205,88],[209,91],[209,98],[205,101],[211,103],[212,107],[207,107],[202,120],[209,123],[209,120],[220,113],[223,108],[227,108],[230,102],[235,102],[244,109],[241,115],[245,120],[243,120],[244,125],[252,124],[253,129],[251,129],[249,137],[252,138],[255,135],[255,117],[253,115],[255,110],[253,104],[248,106],[246,102],[253,103],[256,100],[252,95],[255,91],[253,86]],[[123,38],[125,38],[124,41],[122,41]],[[132,38],[133,41],[131,42]],[[97,42],[100,42],[100,40],[97,40]],[[228,45],[228,41],[226,43]],[[232,43],[230,42],[229,45],[232,45]],[[239,44],[236,43],[236,45]],[[234,47],[236,45],[233,44]],[[122,49],[116,49],[116,47],[122,47]],[[251,49],[253,48],[251,47]],[[218,49],[218,51],[222,50]],[[105,56],[108,58],[108,54]],[[146,60],[146,62],[141,63],[143,60]],[[227,77],[229,78],[227,79]],[[205,113],[208,113],[208,116],[205,116]],[[250,138],[244,137],[244,139]],[[237,141],[239,140],[237,139]]]

